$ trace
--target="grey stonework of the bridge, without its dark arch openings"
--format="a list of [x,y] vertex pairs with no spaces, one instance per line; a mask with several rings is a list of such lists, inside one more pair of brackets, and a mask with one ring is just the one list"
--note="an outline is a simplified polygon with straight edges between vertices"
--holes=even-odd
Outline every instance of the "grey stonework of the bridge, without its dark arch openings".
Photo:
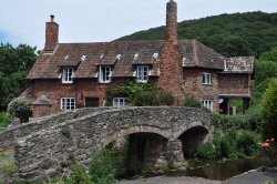
[[[59,115],[45,119],[41,130],[17,137],[14,151],[20,178],[47,180],[68,173],[72,155],[88,166],[92,147],[103,147],[135,133],[165,139],[165,161],[178,166],[185,161],[179,137],[186,131],[201,127],[207,132],[206,139],[213,133],[208,114],[192,108],[86,109],[78,115],[71,112],[68,119],[64,116],[63,113],[61,120]],[[29,129],[32,123],[28,124]]]

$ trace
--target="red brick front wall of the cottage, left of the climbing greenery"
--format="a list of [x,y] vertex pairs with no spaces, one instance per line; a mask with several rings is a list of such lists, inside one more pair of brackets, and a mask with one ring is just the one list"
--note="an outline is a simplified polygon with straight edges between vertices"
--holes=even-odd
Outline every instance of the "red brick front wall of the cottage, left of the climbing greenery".
[[61,80],[33,80],[33,98],[44,95],[52,102],[52,108],[33,105],[33,116],[60,111],[61,98],[75,98],[79,104],[84,104],[85,98],[99,98],[99,105],[102,106],[106,89],[124,85],[126,81],[119,78],[112,79],[110,84],[101,84],[98,79],[82,79],[75,80],[73,84],[62,84]]

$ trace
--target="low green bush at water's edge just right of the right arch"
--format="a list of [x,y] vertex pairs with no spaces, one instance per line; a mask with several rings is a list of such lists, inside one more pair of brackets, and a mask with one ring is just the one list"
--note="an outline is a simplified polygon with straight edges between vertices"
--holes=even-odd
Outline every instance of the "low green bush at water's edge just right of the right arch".
[[202,143],[196,152],[196,156],[202,159],[215,159],[216,151],[211,142]]

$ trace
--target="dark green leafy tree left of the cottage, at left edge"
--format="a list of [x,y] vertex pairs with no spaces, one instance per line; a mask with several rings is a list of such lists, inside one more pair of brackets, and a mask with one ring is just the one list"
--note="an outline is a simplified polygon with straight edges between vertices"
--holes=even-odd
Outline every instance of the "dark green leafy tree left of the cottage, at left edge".
[[0,44],[0,111],[6,110],[25,85],[27,73],[37,59],[35,50],[27,44],[17,48]]

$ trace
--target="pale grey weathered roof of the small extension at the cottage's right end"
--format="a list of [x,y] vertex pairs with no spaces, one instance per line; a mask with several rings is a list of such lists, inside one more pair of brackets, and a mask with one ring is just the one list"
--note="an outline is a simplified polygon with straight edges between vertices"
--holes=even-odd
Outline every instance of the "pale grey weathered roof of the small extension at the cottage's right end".
[[253,73],[254,57],[227,58],[225,73]]

